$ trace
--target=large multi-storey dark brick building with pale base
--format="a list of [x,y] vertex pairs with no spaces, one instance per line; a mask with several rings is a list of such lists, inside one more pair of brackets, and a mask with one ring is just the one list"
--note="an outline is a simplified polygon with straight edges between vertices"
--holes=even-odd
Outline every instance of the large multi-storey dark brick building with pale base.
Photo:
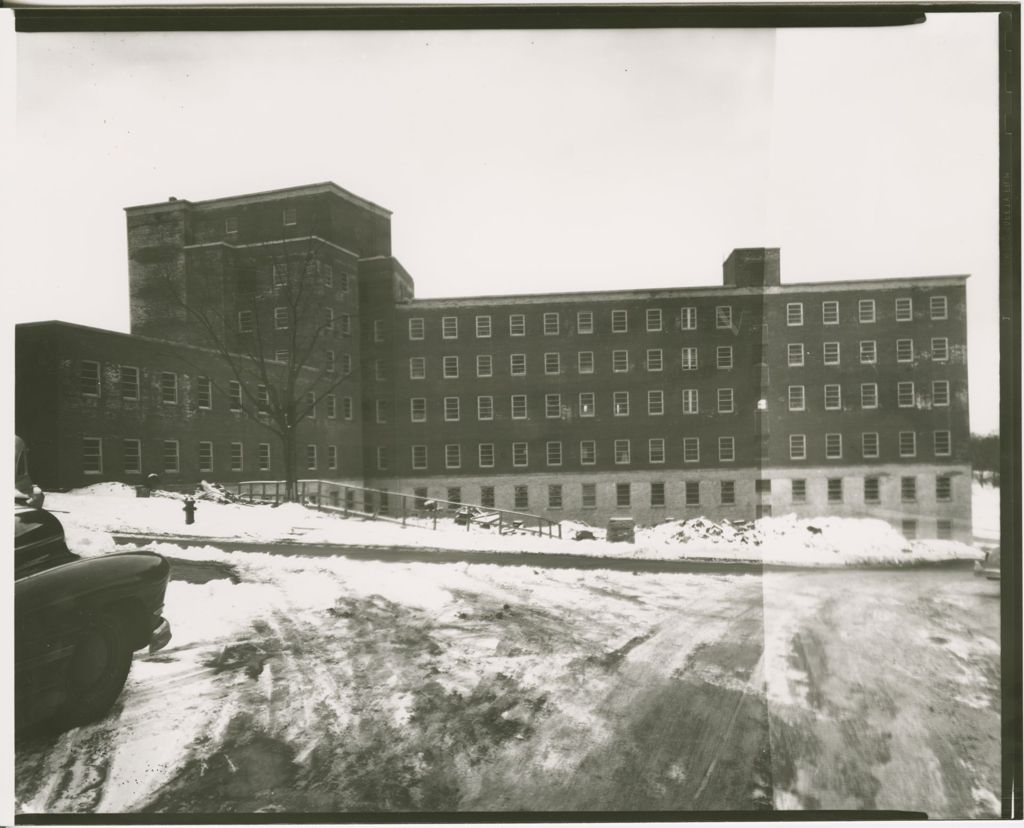
[[[115,388],[133,343],[147,343],[136,359],[145,371],[164,372],[167,354],[189,347],[175,343],[202,341],[163,288],[216,306],[233,349],[287,362],[293,334],[323,316],[290,311],[281,297],[314,271],[331,323],[302,360],[341,371],[335,394],[346,402],[334,418],[318,403],[306,424],[304,476],[554,519],[871,515],[908,534],[970,535],[966,276],[782,285],[777,250],[745,249],[729,256],[719,286],[417,300],[391,256],[388,211],[334,184],[127,214],[136,336],[40,334],[71,328],[55,323],[18,332],[19,382],[26,360],[42,358],[42,336],[48,404],[65,412],[63,428],[82,426],[70,429],[81,436],[67,438],[53,482],[37,452],[44,484],[128,474],[82,471],[74,440],[98,409],[76,389],[83,360]],[[89,337],[102,355],[82,344]],[[40,393],[19,386],[19,429],[23,395]],[[200,441],[219,456],[239,440],[244,457],[261,456],[250,443],[265,434],[237,428],[224,407],[135,426],[164,441],[180,421],[177,439],[196,443],[183,448],[189,456]],[[274,472],[272,459],[212,470],[227,481]]]

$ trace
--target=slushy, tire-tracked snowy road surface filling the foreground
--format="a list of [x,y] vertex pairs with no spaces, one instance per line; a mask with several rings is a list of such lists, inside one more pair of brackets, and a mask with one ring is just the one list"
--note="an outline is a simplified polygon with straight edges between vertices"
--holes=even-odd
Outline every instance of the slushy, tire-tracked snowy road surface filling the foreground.
[[998,583],[969,569],[173,572],[175,638],[111,715],[17,743],[20,813],[998,813]]

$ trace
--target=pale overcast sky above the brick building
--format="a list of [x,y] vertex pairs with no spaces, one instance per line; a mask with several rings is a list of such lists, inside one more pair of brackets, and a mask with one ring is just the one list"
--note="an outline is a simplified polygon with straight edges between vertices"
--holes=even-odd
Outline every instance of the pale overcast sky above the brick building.
[[970,273],[997,428],[993,14],[16,46],[15,321],[128,330],[125,206],[333,180],[394,211],[420,297],[716,285],[736,247],[783,282]]

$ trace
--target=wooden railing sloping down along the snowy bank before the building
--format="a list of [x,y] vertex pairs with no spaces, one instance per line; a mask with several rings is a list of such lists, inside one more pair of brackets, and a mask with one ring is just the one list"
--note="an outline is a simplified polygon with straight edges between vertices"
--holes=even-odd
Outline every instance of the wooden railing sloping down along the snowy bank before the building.
[[[458,519],[460,510],[477,510],[478,514],[466,515],[466,531],[475,523],[478,526],[493,526],[498,529],[499,534],[531,532],[548,537],[562,536],[562,526],[558,521],[528,512],[419,497],[400,491],[351,486],[332,480],[297,480],[296,487],[300,503],[313,506],[322,512],[335,512],[345,517],[352,515],[400,523],[402,526],[436,529],[438,519]],[[228,488],[233,488],[240,498],[250,503],[278,504],[285,499],[284,480],[244,480]]]

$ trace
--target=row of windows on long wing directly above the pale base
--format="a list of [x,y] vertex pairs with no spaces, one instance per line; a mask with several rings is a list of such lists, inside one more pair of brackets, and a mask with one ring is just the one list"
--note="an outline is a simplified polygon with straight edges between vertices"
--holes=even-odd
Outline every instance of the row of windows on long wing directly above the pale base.
[[[684,437],[681,441],[682,462],[700,463],[700,438]],[[736,459],[735,438],[718,438],[718,462],[732,463]],[[896,434],[896,447],[900,457],[918,456],[918,433],[900,431]],[[612,460],[615,465],[624,466],[633,462],[633,441],[629,439],[612,441]],[[790,460],[806,461],[808,459],[807,435],[788,435]],[[565,451],[561,440],[545,442],[544,465],[557,468],[563,465]],[[864,460],[877,460],[881,456],[882,437],[877,431],[860,434],[860,456]],[[429,468],[428,446],[416,444],[411,447],[412,466],[415,471],[426,471]],[[932,432],[932,452],[936,457],[947,457],[952,454],[952,438],[948,431]],[[581,466],[597,464],[597,440],[581,440],[578,462]],[[512,466],[526,468],[529,466],[529,444],[513,442],[511,444]],[[843,435],[838,432],[826,432],[824,435],[824,459],[843,459]],[[497,449],[495,443],[477,443],[476,466],[480,469],[495,468]],[[461,469],[465,457],[461,443],[447,443],[443,448],[443,464],[445,469]],[[647,440],[646,463],[664,464],[669,462],[667,442],[664,437],[651,437]],[[387,471],[390,468],[390,452],[387,446],[377,448],[377,468]]]

